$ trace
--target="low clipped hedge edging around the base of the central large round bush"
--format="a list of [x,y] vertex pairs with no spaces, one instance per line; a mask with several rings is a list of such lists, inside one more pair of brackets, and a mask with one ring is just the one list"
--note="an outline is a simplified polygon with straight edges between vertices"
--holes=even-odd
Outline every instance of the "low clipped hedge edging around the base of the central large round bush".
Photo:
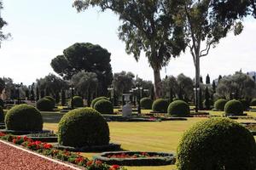
[[58,150],[67,150],[67,151],[73,151],[73,152],[101,152],[101,151],[121,150],[121,144],[110,143],[105,145],[83,146],[80,148],[55,144],[54,148]]

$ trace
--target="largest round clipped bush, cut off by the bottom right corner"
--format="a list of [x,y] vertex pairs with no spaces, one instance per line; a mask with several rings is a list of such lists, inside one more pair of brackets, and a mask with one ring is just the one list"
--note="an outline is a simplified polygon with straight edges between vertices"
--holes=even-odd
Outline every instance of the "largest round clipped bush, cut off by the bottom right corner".
[[177,147],[178,170],[255,170],[253,135],[228,118],[196,123]]

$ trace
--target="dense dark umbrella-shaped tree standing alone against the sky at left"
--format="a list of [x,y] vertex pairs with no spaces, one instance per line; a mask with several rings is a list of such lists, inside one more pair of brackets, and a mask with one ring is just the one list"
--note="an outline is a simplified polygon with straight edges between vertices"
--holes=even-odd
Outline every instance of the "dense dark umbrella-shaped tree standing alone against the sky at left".
[[108,94],[113,73],[110,53],[105,48],[92,43],[75,43],[64,49],[62,55],[51,60],[50,65],[64,79],[70,80],[79,71],[94,72],[99,81],[100,94]]

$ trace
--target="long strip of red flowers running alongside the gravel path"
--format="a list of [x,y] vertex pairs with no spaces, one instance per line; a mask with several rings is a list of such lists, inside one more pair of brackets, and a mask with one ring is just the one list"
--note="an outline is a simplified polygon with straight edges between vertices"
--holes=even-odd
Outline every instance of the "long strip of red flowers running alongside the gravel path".
[[124,167],[119,167],[118,165],[109,166],[106,163],[102,163],[102,161],[91,161],[88,158],[81,156],[79,153],[67,150],[57,150],[52,146],[52,144],[33,141],[26,136],[14,136],[0,132],[0,139],[21,145],[28,150],[36,151],[44,156],[50,156],[61,161],[68,161],[75,165],[84,167],[87,170],[125,170]]

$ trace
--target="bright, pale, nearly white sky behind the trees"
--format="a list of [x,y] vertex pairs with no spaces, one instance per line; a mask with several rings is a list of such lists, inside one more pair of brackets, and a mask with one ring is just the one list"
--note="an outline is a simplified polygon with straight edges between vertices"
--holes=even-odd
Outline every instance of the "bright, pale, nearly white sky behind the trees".
[[[11,77],[15,82],[31,84],[39,77],[54,72],[50,60],[62,54],[75,42],[91,42],[107,48],[112,54],[113,72],[132,71],[138,77],[153,80],[153,71],[142,55],[137,63],[125,54],[125,43],[117,36],[118,16],[108,11],[90,8],[77,13],[72,0],[3,0],[2,16],[9,25],[3,31],[12,38],[0,48],[0,77]],[[239,37],[229,35],[201,59],[201,75],[211,77],[235,71],[255,71],[256,20],[246,20]],[[161,76],[184,73],[194,77],[195,68],[189,53],[163,68]]]

